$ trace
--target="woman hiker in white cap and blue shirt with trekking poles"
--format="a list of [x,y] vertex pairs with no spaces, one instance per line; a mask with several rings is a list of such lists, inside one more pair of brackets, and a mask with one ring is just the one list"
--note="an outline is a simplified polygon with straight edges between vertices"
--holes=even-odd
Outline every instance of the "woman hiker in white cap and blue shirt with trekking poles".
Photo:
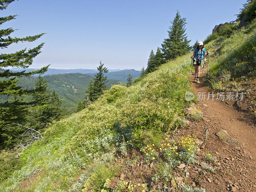
[[193,83],[199,83],[200,69],[203,67],[204,56],[208,53],[209,51],[206,52],[204,48],[204,43],[200,41],[197,48],[194,50],[194,54],[191,56],[191,58],[193,58],[193,66],[195,68],[195,78]]

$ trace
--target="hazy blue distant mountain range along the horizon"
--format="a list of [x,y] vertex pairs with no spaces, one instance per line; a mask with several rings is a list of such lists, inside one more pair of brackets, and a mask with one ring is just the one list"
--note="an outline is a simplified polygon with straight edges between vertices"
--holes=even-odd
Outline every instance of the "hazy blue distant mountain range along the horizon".
[[[28,68],[26,69],[27,72],[29,71],[35,71],[38,68]],[[24,71],[24,69],[11,69],[12,71]],[[46,75],[56,75],[56,74],[65,74],[65,73],[81,73],[86,75],[94,76],[98,72],[97,69],[52,69],[48,68],[48,70],[43,74],[43,76]],[[126,81],[126,78],[128,74],[131,74],[133,76],[133,80],[140,76],[140,71],[137,71],[135,69],[108,69],[108,73],[106,76],[108,76],[108,79],[116,79],[119,81]],[[36,74],[35,76],[39,76]]]

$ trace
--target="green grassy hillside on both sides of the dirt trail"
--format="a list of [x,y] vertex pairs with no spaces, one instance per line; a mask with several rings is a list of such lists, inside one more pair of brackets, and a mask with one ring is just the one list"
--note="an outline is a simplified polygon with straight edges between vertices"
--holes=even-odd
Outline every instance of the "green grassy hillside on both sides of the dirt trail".
[[[250,86],[256,75],[254,26],[254,21],[241,30],[227,25],[207,37],[205,48],[211,51],[209,87],[246,91],[247,100],[255,106],[255,94],[251,94],[255,86]],[[14,153],[2,151],[0,191],[145,192],[150,190],[148,182],[158,176],[171,182],[172,169],[181,162],[194,163],[197,150],[196,136],[169,137],[185,126],[183,109],[197,102],[196,98],[185,100],[185,92],[192,91],[188,81],[191,54],[162,65],[131,87],[113,85],[88,108],[52,124],[44,138],[18,160]],[[122,162],[127,156],[129,161]],[[143,183],[116,179],[121,169],[136,167],[138,157],[147,166],[156,162],[157,174],[139,173]],[[120,163],[114,166],[117,160]]]

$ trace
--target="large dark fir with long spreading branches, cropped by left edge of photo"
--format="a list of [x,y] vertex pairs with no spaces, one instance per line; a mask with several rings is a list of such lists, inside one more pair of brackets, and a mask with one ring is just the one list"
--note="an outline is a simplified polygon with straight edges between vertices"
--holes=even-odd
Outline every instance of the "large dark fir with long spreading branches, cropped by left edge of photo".
[[[1,0],[0,2],[0,10],[4,10],[7,6],[15,0]],[[17,15],[9,15],[0,17],[0,25],[4,24],[7,21],[16,19]],[[18,42],[33,42],[40,38],[44,33],[35,36],[27,36],[22,38],[11,37],[11,33],[13,33],[16,29],[7,28],[0,29],[0,48],[7,48],[9,45]],[[0,55],[0,67],[1,68],[28,68],[32,62],[33,58],[35,58],[41,51],[40,49],[43,47],[44,43],[39,44],[35,48],[32,49],[22,49],[20,51],[14,53],[1,53]],[[10,125],[12,123],[17,122],[20,116],[22,116],[24,112],[24,108],[22,106],[25,105],[24,100],[17,100],[18,97],[25,97],[26,95],[33,92],[33,90],[25,90],[22,87],[17,86],[18,78],[21,76],[30,76],[33,74],[44,73],[47,71],[46,66],[36,71],[31,72],[12,72],[10,70],[0,71],[0,95],[9,95],[15,98],[14,100],[9,100],[3,103],[0,103],[0,137],[3,135],[2,133],[8,134],[10,132]],[[11,117],[11,118],[10,118]],[[3,139],[0,138],[2,141]]]

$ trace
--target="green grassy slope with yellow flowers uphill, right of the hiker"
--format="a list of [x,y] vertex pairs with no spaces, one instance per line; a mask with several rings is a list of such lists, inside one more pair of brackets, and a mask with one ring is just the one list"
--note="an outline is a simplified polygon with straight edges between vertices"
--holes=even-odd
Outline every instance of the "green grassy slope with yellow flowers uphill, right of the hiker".
[[[241,92],[240,86],[245,79],[253,79],[256,75],[256,34],[245,33],[245,30],[237,30],[228,38],[222,38],[210,42],[210,48],[216,50],[210,55],[210,87],[216,91]],[[224,79],[217,82],[215,79],[223,76]]]

